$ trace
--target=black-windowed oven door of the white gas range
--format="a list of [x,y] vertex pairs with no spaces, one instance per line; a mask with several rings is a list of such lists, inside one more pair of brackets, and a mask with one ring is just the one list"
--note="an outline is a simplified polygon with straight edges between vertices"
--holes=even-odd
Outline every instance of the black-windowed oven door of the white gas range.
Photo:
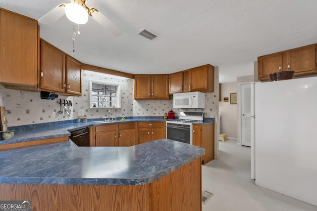
[[192,125],[166,124],[166,138],[180,141],[186,144],[193,144]]

